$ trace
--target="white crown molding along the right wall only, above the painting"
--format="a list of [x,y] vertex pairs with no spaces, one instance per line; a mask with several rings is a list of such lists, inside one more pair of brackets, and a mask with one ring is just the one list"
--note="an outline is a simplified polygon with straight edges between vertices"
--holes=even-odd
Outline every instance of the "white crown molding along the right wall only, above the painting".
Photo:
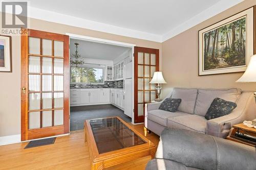
[[197,14],[196,16],[188,19],[187,21],[183,22],[181,25],[178,27],[174,28],[173,30],[170,30],[168,33],[164,34],[162,36],[162,42],[175,37],[176,35],[198,25],[199,23],[227,10],[228,8],[231,8],[244,0],[222,0],[215,5],[207,8],[203,12]]

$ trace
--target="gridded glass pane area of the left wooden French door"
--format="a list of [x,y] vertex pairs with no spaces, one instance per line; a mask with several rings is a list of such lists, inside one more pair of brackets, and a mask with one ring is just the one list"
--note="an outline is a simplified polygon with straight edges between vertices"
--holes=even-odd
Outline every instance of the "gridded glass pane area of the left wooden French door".
[[28,39],[28,127],[63,125],[63,42],[30,36]]

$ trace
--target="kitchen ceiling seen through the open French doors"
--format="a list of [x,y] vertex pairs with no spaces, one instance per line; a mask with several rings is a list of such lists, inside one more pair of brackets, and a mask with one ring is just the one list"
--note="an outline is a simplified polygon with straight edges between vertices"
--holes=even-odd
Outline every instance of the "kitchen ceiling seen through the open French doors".
[[114,60],[124,52],[130,50],[129,47],[97,43],[92,41],[70,40],[70,54],[76,51],[75,44],[79,43],[77,51],[83,58],[93,58],[102,60]]

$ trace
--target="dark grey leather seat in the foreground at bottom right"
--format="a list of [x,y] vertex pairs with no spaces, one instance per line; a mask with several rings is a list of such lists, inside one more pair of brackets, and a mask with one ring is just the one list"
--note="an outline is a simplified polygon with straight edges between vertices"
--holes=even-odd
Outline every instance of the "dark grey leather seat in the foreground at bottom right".
[[245,144],[181,129],[165,129],[146,170],[251,170],[256,150]]

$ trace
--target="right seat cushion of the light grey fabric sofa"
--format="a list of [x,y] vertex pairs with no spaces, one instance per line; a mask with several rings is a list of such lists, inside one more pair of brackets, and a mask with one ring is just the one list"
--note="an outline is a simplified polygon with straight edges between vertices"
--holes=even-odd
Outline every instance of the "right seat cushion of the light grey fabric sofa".
[[168,118],[168,128],[186,129],[200,133],[206,133],[207,120],[200,115],[189,114]]

